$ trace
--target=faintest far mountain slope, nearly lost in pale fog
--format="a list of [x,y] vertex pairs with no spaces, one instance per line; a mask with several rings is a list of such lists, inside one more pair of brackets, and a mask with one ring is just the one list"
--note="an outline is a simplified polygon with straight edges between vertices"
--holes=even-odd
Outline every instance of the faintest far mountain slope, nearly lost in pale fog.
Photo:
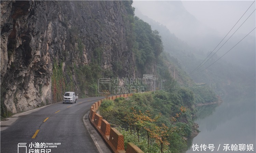
[[[146,3],[146,7],[143,3]],[[182,1],[134,1],[133,6],[142,14],[164,24],[171,33],[189,45],[208,47],[210,44],[207,42],[215,41],[216,31],[191,15]]]

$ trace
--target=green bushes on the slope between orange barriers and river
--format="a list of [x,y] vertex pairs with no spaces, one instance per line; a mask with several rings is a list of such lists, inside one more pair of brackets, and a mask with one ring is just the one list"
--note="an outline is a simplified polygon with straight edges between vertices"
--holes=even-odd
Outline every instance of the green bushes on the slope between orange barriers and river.
[[[145,153],[157,153],[160,152],[159,144],[155,142],[157,140],[151,137],[150,146],[148,147],[147,132],[144,128],[141,128],[139,130],[140,142],[138,142],[138,133],[136,133],[138,132],[138,129],[136,129],[136,125],[138,124],[132,124],[132,117],[130,120],[125,119],[127,116],[134,113],[138,115],[138,112],[150,112],[148,117],[151,119],[155,118],[156,120],[148,124],[154,124],[159,127],[161,127],[162,124],[165,124],[169,128],[174,128],[176,126],[176,128],[174,128],[175,130],[170,132],[168,137],[170,145],[168,146],[168,150],[165,150],[164,152],[178,153],[183,152],[184,149],[187,148],[184,137],[189,138],[192,133],[194,122],[192,121],[191,116],[195,114],[195,109],[192,106],[193,102],[194,92],[187,88],[177,87],[176,91],[171,93],[167,91],[156,91],[155,94],[146,92],[143,94],[134,94],[127,99],[123,97],[117,98],[114,102],[105,100],[101,104],[100,114],[104,119],[111,123],[111,126],[114,125],[114,127],[116,127],[122,125],[122,128],[129,129],[127,131],[120,127],[118,129],[118,131],[124,135],[125,146],[127,145],[127,142],[133,142]],[[185,112],[181,112],[181,106],[185,107]],[[134,112],[132,110],[136,111]],[[172,119],[177,114],[179,114],[177,120],[172,124]],[[142,122],[140,123],[143,124]],[[148,128],[149,127],[150,126],[148,126]]]

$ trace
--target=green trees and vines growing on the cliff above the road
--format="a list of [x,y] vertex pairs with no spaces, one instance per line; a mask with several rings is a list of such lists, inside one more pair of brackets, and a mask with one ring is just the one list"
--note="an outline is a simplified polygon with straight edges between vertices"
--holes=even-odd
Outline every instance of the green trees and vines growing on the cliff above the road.
[[[102,5],[99,6],[105,5],[103,1],[97,3],[102,3]],[[153,31],[150,24],[134,16],[134,8],[131,6],[132,1],[118,3],[126,10],[121,12],[122,21],[125,23],[125,39],[123,43],[127,45],[128,50],[131,52],[124,52],[122,53],[122,57],[118,57],[120,49],[118,49],[115,44],[103,45],[105,43],[97,40],[97,43],[91,47],[93,52],[89,55],[84,54],[84,49],[87,48],[88,45],[86,45],[85,40],[79,35],[79,28],[81,27],[74,26],[73,29],[77,30],[71,33],[72,38],[70,41],[73,44],[77,44],[74,48],[78,53],[77,55],[80,56],[77,58],[79,63],[75,62],[69,64],[65,59],[60,61],[60,59],[57,58],[54,60],[51,78],[54,101],[60,101],[63,92],[71,89],[79,93],[81,98],[99,96],[98,89],[101,87],[98,86],[98,79],[100,78],[110,78],[112,80],[111,86],[113,87],[116,84],[119,85],[119,82],[113,81],[116,79],[137,79],[141,78],[143,74],[153,74],[158,78],[156,81],[156,89],[161,88],[171,92],[173,87],[195,86],[194,81],[188,77],[182,69],[182,66],[176,64],[175,59],[172,59],[169,54],[163,51],[159,32],[157,30]],[[99,19],[95,20],[97,20],[97,22],[94,24],[100,24]],[[108,32],[103,33],[103,35],[105,34],[108,34]],[[115,39],[114,36],[111,36],[111,38]],[[94,41],[95,38],[90,39]],[[120,45],[123,46],[122,44]],[[110,58],[108,54],[111,56],[115,55],[115,58]],[[84,56],[87,56],[86,60]],[[132,56],[132,58],[129,59],[132,59],[133,62],[125,61],[126,56]],[[66,57],[64,56],[63,58]],[[106,63],[106,61],[112,62]],[[87,63],[84,64],[85,62]],[[63,65],[63,63],[65,63],[65,65]],[[176,72],[175,79],[173,78],[173,68]],[[131,72],[130,70],[132,69],[134,70]],[[135,86],[137,89],[139,85],[137,84]],[[143,84],[143,86],[145,87],[145,91],[152,90],[153,88],[152,84]],[[113,90],[114,88],[112,88],[110,92],[116,94]],[[187,89],[181,88],[180,90]],[[192,88],[191,90],[194,91]],[[213,92],[210,94],[214,95]],[[198,96],[196,96],[195,102],[204,103],[203,99],[204,97],[198,98]]]

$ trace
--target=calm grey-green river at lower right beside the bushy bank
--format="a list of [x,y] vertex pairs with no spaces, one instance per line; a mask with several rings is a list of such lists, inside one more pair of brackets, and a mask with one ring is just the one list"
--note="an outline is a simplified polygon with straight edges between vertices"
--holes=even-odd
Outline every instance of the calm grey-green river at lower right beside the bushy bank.
[[[198,123],[200,133],[188,141],[192,146],[186,153],[256,152],[255,94],[225,96],[222,99],[221,104],[198,107],[194,122]],[[211,147],[209,145],[213,145],[213,151],[208,148]],[[207,147],[206,151],[203,150],[204,147]],[[237,151],[234,151],[236,147]],[[239,149],[243,150],[243,147],[245,150],[240,151]]]

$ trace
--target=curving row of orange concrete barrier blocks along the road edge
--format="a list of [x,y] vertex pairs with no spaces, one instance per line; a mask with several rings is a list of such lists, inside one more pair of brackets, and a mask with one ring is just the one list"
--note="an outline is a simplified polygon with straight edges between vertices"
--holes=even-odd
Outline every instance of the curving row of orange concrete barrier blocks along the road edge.
[[[127,98],[132,95],[133,94],[122,94],[108,97],[103,100],[115,100],[119,97]],[[139,147],[134,145],[134,143],[130,142],[127,144],[127,149],[125,151],[124,136],[115,128],[111,128],[110,123],[96,113],[103,100],[100,100],[91,105],[91,110],[89,113],[90,123],[94,126],[94,128],[98,131],[98,133],[102,136],[102,138],[105,140],[105,142],[109,145],[114,153],[143,153],[143,151],[140,150]]]

